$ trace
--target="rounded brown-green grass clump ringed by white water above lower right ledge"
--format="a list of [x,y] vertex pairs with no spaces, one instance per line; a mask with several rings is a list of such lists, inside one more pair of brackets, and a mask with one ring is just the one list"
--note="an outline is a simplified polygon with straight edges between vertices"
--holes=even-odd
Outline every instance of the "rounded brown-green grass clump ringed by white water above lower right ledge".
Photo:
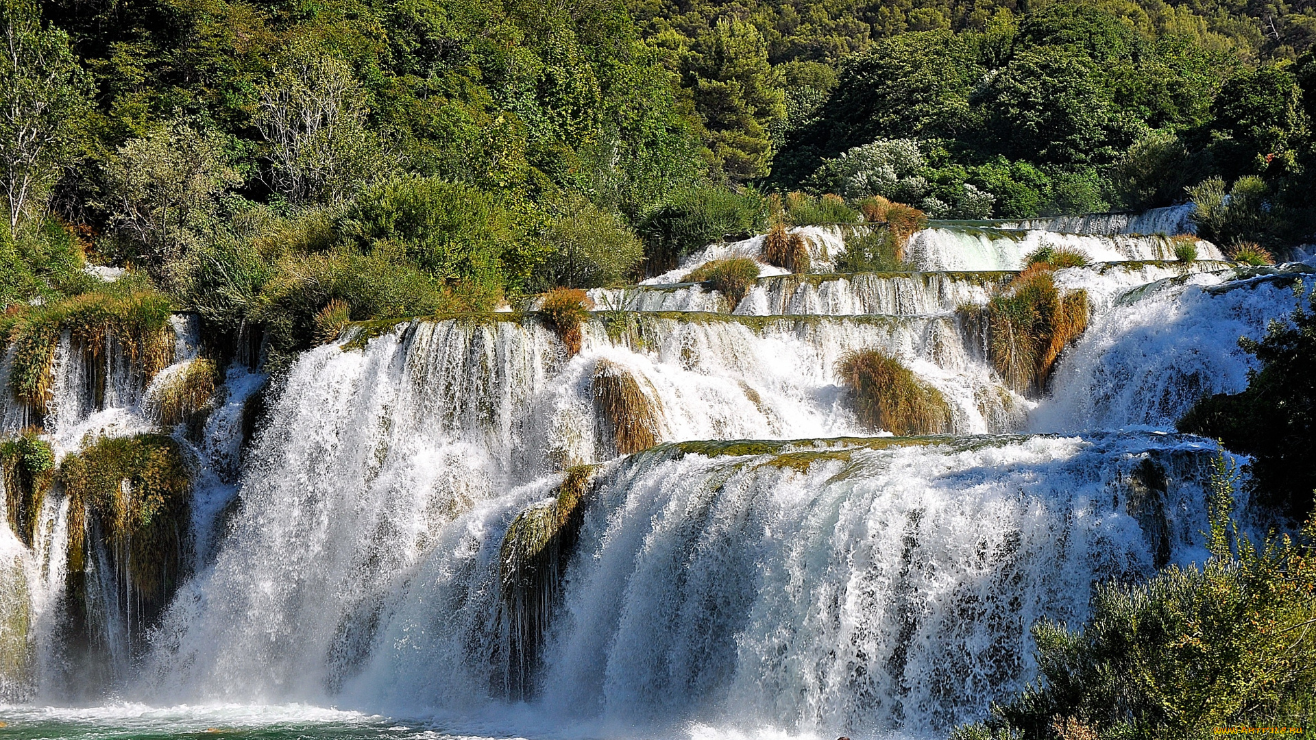
[[940,435],[950,427],[941,391],[919,381],[899,359],[879,350],[851,352],[837,363],[859,421],[892,435]]

